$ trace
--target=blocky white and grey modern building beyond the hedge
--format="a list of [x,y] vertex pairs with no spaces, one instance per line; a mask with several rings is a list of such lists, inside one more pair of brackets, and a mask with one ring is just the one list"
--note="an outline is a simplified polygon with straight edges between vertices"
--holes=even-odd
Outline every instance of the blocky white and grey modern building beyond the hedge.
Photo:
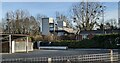
[[67,27],[64,20],[57,20],[57,23],[55,23],[53,18],[42,18],[42,35],[63,36],[71,33],[73,33],[73,29]]

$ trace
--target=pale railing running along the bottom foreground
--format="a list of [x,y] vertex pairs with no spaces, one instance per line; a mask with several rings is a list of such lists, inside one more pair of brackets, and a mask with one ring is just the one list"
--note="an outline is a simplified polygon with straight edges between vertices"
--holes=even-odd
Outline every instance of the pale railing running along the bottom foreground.
[[[112,61],[118,61],[118,52],[112,54]],[[111,61],[110,53],[102,54],[86,54],[86,55],[72,55],[72,56],[56,56],[56,57],[34,57],[34,58],[16,58],[16,59],[2,59],[2,63],[13,62],[54,62],[54,61]]]

